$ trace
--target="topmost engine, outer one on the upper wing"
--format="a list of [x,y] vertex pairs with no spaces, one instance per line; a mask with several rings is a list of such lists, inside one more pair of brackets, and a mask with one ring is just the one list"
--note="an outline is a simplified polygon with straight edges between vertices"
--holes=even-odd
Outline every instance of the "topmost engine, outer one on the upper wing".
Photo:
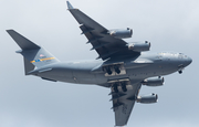
[[118,30],[109,30],[108,32],[112,36],[119,38],[119,39],[126,39],[126,38],[132,38],[133,30],[127,28],[127,29],[118,29]]

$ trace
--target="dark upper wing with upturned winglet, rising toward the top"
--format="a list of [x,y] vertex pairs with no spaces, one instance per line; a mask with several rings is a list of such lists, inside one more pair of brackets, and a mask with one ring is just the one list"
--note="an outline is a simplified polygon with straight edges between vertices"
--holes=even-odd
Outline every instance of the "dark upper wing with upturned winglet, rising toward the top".
[[128,50],[127,43],[118,38],[112,36],[108,30],[96,21],[87,17],[78,9],[74,9],[67,1],[69,11],[80,23],[82,34],[84,34],[88,42],[93,45],[91,50],[98,53],[97,59],[106,60],[109,57],[118,57],[124,55],[139,55],[139,52]]

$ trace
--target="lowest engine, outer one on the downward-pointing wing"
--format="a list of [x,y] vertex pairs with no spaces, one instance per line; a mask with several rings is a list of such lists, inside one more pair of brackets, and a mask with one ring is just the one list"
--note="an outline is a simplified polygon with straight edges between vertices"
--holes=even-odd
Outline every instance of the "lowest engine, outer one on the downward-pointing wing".
[[143,103],[143,104],[157,103],[157,100],[158,100],[158,95],[154,93],[151,95],[137,97],[137,103]]

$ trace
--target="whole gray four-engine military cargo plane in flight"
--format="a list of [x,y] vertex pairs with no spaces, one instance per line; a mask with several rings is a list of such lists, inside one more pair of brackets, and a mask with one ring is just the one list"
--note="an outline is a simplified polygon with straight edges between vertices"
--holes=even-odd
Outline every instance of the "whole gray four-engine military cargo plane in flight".
[[97,52],[96,60],[60,62],[45,49],[14,30],[7,30],[7,32],[21,47],[17,53],[23,55],[25,75],[34,75],[53,82],[96,84],[111,88],[115,126],[127,125],[135,102],[157,103],[157,94],[138,95],[142,85],[161,86],[163,75],[175,72],[181,74],[192,61],[182,53],[144,53],[144,51],[149,51],[150,42],[128,43],[123,40],[132,38],[132,29],[107,30],[81,10],[73,8],[69,1],[67,8],[80,23],[82,34],[92,45],[91,50]]

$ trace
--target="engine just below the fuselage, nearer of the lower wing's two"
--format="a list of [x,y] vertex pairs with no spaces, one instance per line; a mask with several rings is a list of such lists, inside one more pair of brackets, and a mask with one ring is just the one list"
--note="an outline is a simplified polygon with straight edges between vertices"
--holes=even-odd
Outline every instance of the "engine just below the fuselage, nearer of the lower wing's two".
[[161,86],[164,85],[164,77],[151,77],[143,81],[143,85],[147,86]]

